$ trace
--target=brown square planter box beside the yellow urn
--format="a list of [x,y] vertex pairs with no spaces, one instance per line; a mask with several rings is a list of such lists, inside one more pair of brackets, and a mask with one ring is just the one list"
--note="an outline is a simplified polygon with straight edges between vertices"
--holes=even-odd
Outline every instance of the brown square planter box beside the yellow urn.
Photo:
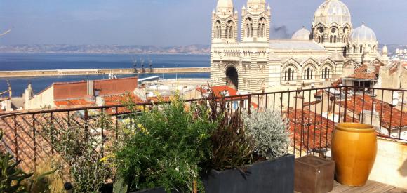
[[308,155],[295,159],[295,191],[325,193],[333,189],[335,162]]

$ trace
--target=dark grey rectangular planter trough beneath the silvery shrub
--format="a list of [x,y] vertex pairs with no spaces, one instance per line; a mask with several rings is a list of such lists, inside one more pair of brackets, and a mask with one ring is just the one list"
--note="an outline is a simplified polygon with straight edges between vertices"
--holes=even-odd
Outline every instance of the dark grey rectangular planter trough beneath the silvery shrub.
[[248,166],[246,173],[237,169],[212,170],[203,179],[207,193],[294,192],[294,156]]

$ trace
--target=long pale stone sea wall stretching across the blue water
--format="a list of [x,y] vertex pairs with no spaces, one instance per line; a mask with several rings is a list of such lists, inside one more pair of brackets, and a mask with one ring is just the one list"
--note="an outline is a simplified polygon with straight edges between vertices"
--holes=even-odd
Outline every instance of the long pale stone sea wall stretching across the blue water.
[[[178,68],[152,68],[137,69],[137,73],[199,73],[211,72],[209,67],[178,67]],[[19,70],[0,71],[0,78],[8,77],[31,77],[31,76],[76,76],[76,75],[98,75],[98,74],[134,74],[134,69],[51,69],[51,70]]]

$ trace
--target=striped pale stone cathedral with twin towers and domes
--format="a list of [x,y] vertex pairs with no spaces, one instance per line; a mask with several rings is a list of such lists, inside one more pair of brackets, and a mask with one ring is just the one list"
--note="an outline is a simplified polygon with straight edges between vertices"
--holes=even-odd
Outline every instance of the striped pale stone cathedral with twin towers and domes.
[[291,39],[270,39],[272,8],[265,0],[248,0],[239,14],[232,0],[218,0],[212,13],[211,83],[242,92],[288,86],[328,86],[361,65],[387,60],[375,33],[364,23],[354,28],[349,8],[325,0],[312,20]]

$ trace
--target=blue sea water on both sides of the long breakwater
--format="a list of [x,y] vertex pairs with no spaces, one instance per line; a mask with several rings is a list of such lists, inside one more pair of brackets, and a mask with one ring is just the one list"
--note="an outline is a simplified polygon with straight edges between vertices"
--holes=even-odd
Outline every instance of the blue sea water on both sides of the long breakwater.
[[[145,67],[149,61],[153,68],[162,67],[210,67],[210,55],[196,54],[91,54],[91,53],[0,53],[0,71],[8,70],[41,70],[41,69],[102,69],[132,68],[137,60],[140,67],[144,60]],[[138,76],[140,79],[149,76],[160,76],[164,79],[188,78],[209,79],[208,72],[178,74],[116,74],[118,78]],[[34,93],[39,93],[54,82],[84,81],[108,79],[108,75],[83,76],[37,76],[23,78],[0,78],[0,93],[6,91],[10,81],[13,97],[22,95],[29,83]],[[1,96],[0,96],[1,97]]]

